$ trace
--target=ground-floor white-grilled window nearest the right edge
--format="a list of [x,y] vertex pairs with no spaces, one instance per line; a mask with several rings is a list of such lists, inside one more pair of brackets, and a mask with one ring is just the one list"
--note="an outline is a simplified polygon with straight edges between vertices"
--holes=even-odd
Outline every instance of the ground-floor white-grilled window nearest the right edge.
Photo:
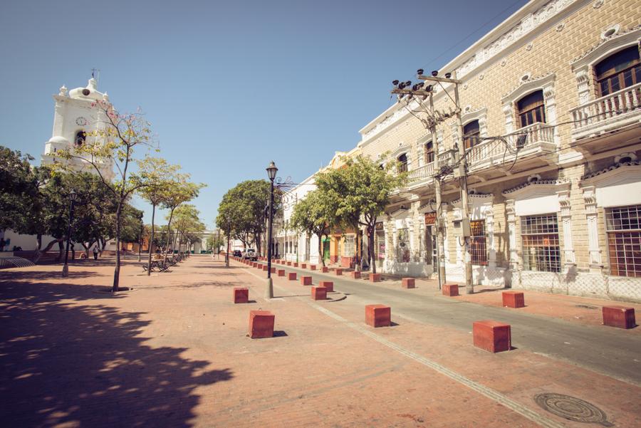
[[641,205],[605,212],[610,274],[641,278]]

